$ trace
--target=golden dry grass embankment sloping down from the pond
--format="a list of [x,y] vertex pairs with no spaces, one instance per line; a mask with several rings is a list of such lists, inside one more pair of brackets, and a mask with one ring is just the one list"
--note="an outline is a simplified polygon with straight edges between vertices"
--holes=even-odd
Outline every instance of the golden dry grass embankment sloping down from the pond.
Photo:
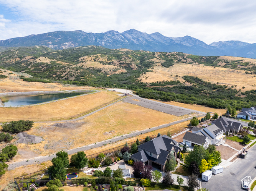
[[[69,117],[112,101],[120,96],[117,92],[101,91],[48,104],[26,107],[1,107],[1,119]],[[36,119],[35,119],[36,121]]]

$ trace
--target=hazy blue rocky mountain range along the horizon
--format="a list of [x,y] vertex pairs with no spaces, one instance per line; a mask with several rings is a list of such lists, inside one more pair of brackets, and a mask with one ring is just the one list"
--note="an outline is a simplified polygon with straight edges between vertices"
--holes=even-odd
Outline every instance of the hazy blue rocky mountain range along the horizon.
[[43,34],[0,40],[0,47],[46,46],[61,50],[86,45],[97,45],[109,49],[126,48],[151,52],[183,52],[201,56],[235,56],[256,58],[256,43],[241,41],[219,41],[211,44],[191,36],[166,37],[159,32],[147,34],[135,29],[124,32],[107,31],[92,33],[78,31],[55,31]]

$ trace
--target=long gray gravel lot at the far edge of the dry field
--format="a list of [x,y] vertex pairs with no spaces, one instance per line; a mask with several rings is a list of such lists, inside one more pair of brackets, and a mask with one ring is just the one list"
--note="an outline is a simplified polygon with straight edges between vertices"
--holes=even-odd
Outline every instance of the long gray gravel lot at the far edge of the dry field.
[[156,101],[152,101],[152,100],[148,100],[140,97],[135,97],[135,96],[127,97],[123,101],[130,104],[139,105],[141,107],[157,110],[159,112],[164,112],[164,113],[176,115],[176,116],[182,116],[182,115],[190,114],[192,112],[197,112],[197,111],[189,110],[187,108],[176,107],[173,105],[164,104],[164,103],[160,103],[160,102],[156,102]]

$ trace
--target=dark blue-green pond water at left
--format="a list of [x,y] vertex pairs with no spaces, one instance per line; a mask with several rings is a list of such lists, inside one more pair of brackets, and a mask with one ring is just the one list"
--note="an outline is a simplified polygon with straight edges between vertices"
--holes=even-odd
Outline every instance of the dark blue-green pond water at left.
[[76,95],[86,94],[88,92],[71,92],[71,93],[58,93],[58,94],[43,94],[43,95],[15,95],[1,97],[5,107],[13,107],[20,105],[41,104],[43,102],[50,102],[53,100],[64,99]]

